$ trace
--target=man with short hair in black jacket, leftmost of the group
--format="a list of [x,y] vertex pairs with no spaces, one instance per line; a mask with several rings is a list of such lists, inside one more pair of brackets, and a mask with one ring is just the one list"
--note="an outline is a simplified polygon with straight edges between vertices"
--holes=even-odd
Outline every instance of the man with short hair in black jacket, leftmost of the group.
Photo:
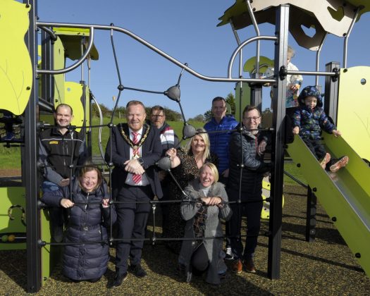
[[[42,192],[56,191],[68,186],[74,171],[68,166],[83,164],[87,149],[83,132],[68,130],[73,120],[73,110],[68,104],[60,104],[54,113],[56,127],[39,134],[39,161],[44,164]],[[63,211],[50,209],[51,238],[61,242],[63,238]]]

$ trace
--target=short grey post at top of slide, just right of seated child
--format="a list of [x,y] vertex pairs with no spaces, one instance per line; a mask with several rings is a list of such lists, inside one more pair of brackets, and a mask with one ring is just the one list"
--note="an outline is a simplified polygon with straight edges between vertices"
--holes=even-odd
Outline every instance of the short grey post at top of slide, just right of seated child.
[[[326,72],[333,72],[333,69],[340,68],[339,62],[331,62],[325,65]],[[338,80],[333,81],[331,77],[325,77],[325,97],[323,99],[323,111],[326,115],[333,118],[335,124],[337,124],[338,116]]]

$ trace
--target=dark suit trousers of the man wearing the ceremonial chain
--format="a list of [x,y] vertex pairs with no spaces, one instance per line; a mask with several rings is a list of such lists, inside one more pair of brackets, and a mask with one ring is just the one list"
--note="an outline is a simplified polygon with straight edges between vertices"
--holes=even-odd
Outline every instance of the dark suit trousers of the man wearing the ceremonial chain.
[[116,198],[118,202],[128,202],[116,204],[118,239],[125,240],[118,241],[116,247],[116,268],[120,269],[120,272],[127,271],[128,257],[131,265],[140,264],[145,228],[151,209],[149,201],[153,197],[150,186],[125,185]]

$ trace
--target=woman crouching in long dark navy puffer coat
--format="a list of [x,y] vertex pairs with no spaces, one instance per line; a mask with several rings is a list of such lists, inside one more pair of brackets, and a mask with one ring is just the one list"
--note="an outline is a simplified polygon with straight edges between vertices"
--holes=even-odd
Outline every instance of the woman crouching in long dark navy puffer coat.
[[99,168],[82,168],[69,187],[45,192],[42,200],[49,206],[68,209],[64,242],[97,242],[66,245],[63,252],[63,274],[71,280],[96,282],[106,272],[109,245],[106,227],[116,221],[116,211],[109,207],[109,195]]

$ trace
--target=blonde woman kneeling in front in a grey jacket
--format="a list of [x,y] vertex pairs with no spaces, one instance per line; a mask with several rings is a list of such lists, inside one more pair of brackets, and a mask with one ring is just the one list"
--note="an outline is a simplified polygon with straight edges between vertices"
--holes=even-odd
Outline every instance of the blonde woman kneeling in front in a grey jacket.
[[[180,270],[185,271],[187,282],[192,274],[207,271],[206,282],[218,285],[220,273],[226,271],[223,262],[223,232],[220,219],[228,220],[232,211],[222,183],[217,183],[218,172],[211,163],[199,170],[199,178],[185,188],[185,199],[180,206],[181,216],[187,221],[185,239],[180,250]],[[204,239],[214,238],[214,239]]]

